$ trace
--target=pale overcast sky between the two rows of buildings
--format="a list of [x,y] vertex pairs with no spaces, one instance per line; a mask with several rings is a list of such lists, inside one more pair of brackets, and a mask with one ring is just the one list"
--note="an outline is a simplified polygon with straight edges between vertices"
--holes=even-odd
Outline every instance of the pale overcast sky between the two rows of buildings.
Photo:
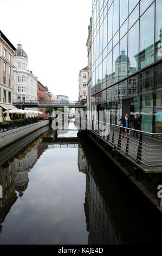
[[78,98],[87,66],[92,0],[0,0],[0,29],[28,55],[28,69],[53,94]]

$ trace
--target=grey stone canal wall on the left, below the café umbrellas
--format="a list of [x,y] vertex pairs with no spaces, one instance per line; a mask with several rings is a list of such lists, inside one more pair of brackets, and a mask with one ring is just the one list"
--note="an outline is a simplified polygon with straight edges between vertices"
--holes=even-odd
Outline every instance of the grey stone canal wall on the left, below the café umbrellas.
[[46,125],[49,125],[49,120],[0,133],[0,150]]

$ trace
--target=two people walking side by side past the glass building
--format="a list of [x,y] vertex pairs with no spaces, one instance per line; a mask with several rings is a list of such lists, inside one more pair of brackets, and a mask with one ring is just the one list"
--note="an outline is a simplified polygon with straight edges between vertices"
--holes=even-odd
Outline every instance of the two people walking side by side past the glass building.
[[[125,117],[122,119],[122,124],[121,124],[122,127],[124,127],[122,129],[122,137],[124,138],[124,136],[127,138],[128,137],[128,133],[129,133],[129,129],[127,128],[131,128],[130,126],[130,118],[128,117],[128,114],[126,113],[125,114]],[[133,120],[133,127],[132,127],[133,130],[140,130],[140,119],[139,119],[139,115],[136,114],[135,115],[135,118]],[[133,132],[133,137],[136,137],[138,138],[138,131],[134,131]]]

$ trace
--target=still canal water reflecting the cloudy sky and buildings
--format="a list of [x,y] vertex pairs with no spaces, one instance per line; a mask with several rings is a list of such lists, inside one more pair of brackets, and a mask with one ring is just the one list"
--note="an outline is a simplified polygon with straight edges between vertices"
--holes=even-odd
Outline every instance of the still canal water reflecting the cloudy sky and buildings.
[[75,130],[0,152],[0,244],[162,244],[162,215]]

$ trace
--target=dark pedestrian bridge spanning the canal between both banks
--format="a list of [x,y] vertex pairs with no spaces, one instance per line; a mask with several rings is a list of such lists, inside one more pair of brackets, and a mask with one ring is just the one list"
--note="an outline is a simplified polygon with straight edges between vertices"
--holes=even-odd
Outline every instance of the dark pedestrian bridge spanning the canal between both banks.
[[35,101],[35,100],[25,100],[25,101],[13,101],[13,105],[17,108],[84,108],[86,104],[86,100],[82,101],[57,101],[57,100],[43,100],[43,101]]

